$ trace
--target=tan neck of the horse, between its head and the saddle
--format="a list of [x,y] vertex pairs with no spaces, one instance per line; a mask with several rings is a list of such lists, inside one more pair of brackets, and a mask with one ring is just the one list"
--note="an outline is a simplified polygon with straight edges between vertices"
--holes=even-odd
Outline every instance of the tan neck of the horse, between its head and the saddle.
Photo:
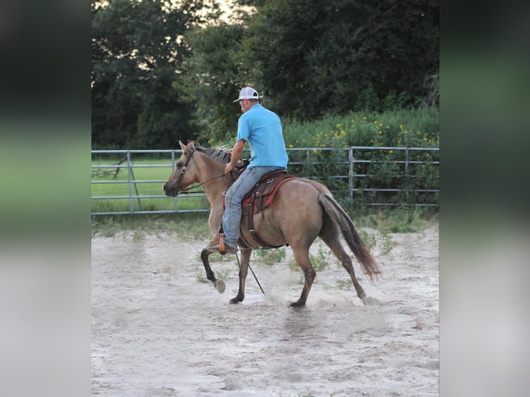
[[199,169],[199,183],[202,187],[210,205],[223,205],[223,192],[228,188],[228,176],[224,175],[224,166],[203,154],[201,164],[197,165]]

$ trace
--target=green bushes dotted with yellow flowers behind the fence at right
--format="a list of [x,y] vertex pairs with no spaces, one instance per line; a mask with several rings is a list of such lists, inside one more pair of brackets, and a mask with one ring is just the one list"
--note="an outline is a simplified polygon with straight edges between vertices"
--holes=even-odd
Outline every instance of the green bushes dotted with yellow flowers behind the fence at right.
[[[405,150],[407,147],[439,146],[437,109],[405,109],[383,113],[354,112],[347,116],[326,116],[314,122],[288,122],[284,138],[289,151],[289,170],[297,176],[311,176],[333,192],[348,192],[349,154],[354,149],[354,179],[359,205],[381,202],[435,203],[439,187],[439,151]],[[330,150],[331,148],[331,150]],[[333,150],[337,149],[337,150]],[[384,188],[387,192],[368,189]],[[366,191],[365,191],[366,190]],[[395,190],[392,192],[391,190]],[[399,192],[398,192],[399,191]]]

